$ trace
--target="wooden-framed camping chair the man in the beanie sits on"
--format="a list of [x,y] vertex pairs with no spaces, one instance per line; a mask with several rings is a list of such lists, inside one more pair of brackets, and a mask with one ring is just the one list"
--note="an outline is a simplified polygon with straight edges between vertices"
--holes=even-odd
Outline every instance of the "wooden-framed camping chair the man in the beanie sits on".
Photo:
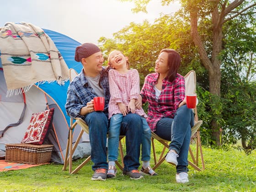
[[[72,80],[74,80],[75,76],[78,75],[77,72],[75,71],[75,69],[69,69],[69,80],[70,82]],[[65,160],[64,160],[64,166],[63,166],[63,171],[66,170],[67,165],[69,164],[69,173],[73,174],[73,173],[77,173],[85,164],[87,164],[90,160],[91,160],[91,155],[89,157],[87,157],[84,162],[82,162],[77,168],[75,168],[74,171],[72,171],[72,156],[75,152],[75,149],[83,135],[83,133],[87,133],[89,134],[89,127],[88,125],[85,123],[85,121],[82,118],[75,118],[75,123],[74,119],[70,117],[70,128],[69,128],[69,136],[68,136],[68,142],[67,142],[67,147],[66,147],[66,155],[65,155]],[[75,144],[73,146],[73,131],[76,125],[80,125],[80,127],[82,128],[78,138],[75,141]],[[116,161],[117,166],[123,170],[123,146],[121,144],[121,139],[123,139],[124,136],[120,136],[119,137],[119,151],[120,151],[120,156],[121,156],[121,161],[122,161],[122,165],[120,165],[119,162]]]

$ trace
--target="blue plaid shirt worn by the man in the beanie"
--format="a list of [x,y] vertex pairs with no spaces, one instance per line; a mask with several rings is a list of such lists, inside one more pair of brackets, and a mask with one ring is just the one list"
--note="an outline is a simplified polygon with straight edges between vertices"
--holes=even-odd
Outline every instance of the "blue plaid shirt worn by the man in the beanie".
[[[105,107],[104,112],[108,113],[108,103],[110,99],[109,92],[109,83],[108,83],[108,72],[106,72],[106,68],[102,67],[101,71],[101,87],[103,88],[105,95]],[[81,117],[85,116],[80,115],[80,110],[82,107],[87,105],[87,102],[91,101],[94,97],[96,97],[96,93],[88,84],[88,81],[84,75],[84,69],[77,75],[74,80],[70,83],[68,92],[67,92],[67,102],[65,104],[66,112],[69,117]]]

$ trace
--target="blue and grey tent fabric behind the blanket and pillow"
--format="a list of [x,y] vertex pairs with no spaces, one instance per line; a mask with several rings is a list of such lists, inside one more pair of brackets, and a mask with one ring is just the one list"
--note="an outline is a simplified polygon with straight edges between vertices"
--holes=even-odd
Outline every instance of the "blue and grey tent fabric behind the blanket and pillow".
[[[63,35],[59,32],[54,32],[48,29],[43,29],[45,33],[53,40],[59,52],[62,54],[68,68],[73,68],[76,71],[81,71],[82,65],[74,60],[75,48],[81,43],[74,39]],[[1,58],[0,58],[1,68]],[[56,163],[64,163],[65,149],[69,132],[69,116],[65,111],[65,103],[67,97],[67,89],[69,81],[64,85],[58,85],[57,82],[44,82],[40,85],[33,85],[26,94],[27,108],[25,116],[21,124],[17,127],[9,128],[3,138],[0,138],[0,151],[5,151],[5,144],[20,143],[23,138],[32,113],[45,110],[48,106],[54,107],[53,129],[48,134],[48,138],[44,144],[53,144],[52,160]],[[0,70],[0,130],[3,130],[8,124],[15,123],[19,119],[24,107],[23,96],[15,95],[6,97],[6,83],[3,70]],[[75,128],[74,140],[80,133],[80,128]],[[73,159],[81,158],[85,155],[90,155],[91,146],[87,134],[82,136]],[[1,151],[1,154],[2,154]]]

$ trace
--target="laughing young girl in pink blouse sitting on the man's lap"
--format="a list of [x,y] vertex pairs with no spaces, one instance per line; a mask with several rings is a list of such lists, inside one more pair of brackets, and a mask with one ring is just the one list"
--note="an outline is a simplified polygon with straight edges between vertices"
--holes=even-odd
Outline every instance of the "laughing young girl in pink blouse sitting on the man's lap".
[[142,136],[142,157],[143,161],[141,173],[151,176],[157,175],[150,167],[150,150],[151,150],[151,130],[145,119],[146,113],[142,108],[135,108],[135,101],[139,97],[139,73],[136,69],[128,69],[128,59],[120,51],[112,51],[108,56],[108,64],[112,67],[109,70],[109,89],[110,101],[108,112],[110,118],[110,127],[108,131],[108,172],[107,177],[116,176],[115,161],[118,156],[118,142],[120,134],[120,126],[123,116],[128,112],[137,113],[143,123]]

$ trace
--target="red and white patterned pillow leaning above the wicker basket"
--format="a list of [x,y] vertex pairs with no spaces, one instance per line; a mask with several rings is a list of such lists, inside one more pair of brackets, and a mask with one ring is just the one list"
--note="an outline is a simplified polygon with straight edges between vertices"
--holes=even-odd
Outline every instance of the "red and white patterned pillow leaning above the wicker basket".
[[54,108],[43,112],[33,113],[29,126],[21,143],[43,144],[49,125],[52,124]]

